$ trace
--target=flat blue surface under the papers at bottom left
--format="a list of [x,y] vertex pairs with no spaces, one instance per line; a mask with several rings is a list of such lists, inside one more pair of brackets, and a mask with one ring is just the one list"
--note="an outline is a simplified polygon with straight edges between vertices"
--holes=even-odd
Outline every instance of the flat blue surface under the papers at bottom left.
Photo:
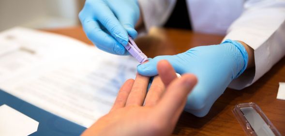
[[39,122],[38,131],[30,136],[80,136],[86,129],[0,90],[0,106],[4,104]]

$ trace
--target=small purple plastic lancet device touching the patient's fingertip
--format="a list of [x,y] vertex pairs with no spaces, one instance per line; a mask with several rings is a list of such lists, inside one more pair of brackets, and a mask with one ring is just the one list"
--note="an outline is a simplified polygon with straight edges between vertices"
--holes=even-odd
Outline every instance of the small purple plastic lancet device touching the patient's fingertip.
[[137,47],[134,40],[129,36],[129,43],[125,46],[125,48],[129,51],[129,53],[135,57],[135,59],[143,63],[148,60],[148,57]]

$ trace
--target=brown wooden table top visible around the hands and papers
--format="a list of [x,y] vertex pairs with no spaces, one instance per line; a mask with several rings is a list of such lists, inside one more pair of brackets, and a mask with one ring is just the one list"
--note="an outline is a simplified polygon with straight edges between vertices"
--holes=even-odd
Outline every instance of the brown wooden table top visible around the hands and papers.
[[[88,44],[81,27],[47,30],[74,37]],[[148,57],[173,55],[198,45],[219,44],[224,36],[194,33],[187,30],[152,29],[150,34],[136,40]],[[285,101],[277,100],[279,82],[285,82],[285,58],[248,88],[240,91],[226,89],[210,112],[197,118],[183,112],[173,136],[244,136],[232,113],[236,104],[254,102],[263,110],[282,135],[285,135]]]

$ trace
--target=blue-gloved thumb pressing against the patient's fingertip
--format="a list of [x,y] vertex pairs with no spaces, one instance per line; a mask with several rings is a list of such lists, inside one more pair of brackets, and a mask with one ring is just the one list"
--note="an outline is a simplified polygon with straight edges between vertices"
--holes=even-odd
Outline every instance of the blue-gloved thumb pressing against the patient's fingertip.
[[183,62],[185,62],[185,60],[183,60],[181,57],[178,57],[178,55],[157,56],[153,59],[150,59],[149,62],[147,62],[147,63],[143,63],[143,64],[138,65],[137,66],[137,72],[143,76],[158,75],[156,66],[160,60],[167,60],[172,65],[172,67],[174,68],[176,73],[178,73],[178,74],[184,74],[185,73],[185,70],[183,68]]

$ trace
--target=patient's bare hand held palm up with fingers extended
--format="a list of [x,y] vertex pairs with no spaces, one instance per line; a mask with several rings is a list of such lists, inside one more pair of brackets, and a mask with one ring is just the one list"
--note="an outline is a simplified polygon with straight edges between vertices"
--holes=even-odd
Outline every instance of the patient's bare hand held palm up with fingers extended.
[[[114,106],[82,136],[167,136],[170,135],[196,84],[194,75],[177,78],[166,60],[157,65],[147,93],[149,77],[136,75],[121,87]],[[166,89],[165,89],[166,87]]]

